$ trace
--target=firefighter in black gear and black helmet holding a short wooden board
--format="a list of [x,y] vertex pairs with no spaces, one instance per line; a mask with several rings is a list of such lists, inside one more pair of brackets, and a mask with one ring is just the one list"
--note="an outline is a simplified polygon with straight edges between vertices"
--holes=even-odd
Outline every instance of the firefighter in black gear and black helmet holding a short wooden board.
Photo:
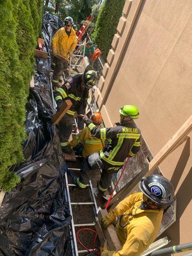
[[68,146],[68,139],[72,132],[73,120],[76,113],[82,114],[86,108],[88,91],[97,82],[97,73],[92,66],[87,66],[83,74],[71,75],[67,78],[62,87],[54,92],[57,110],[64,100],[72,101],[71,108],[66,112],[58,125],[62,150],[66,154],[72,152]]

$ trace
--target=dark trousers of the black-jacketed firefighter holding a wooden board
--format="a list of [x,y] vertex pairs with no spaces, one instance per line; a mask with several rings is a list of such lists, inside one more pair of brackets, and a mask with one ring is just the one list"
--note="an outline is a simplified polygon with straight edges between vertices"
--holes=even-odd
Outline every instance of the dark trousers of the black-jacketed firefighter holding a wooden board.
[[68,139],[73,129],[73,116],[65,114],[58,125],[61,146],[67,146]]

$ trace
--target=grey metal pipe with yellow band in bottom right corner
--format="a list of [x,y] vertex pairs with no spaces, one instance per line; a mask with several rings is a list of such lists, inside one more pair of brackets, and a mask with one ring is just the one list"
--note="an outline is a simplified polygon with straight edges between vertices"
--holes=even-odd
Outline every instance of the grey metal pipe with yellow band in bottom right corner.
[[160,255],[169,255],[169,254],[175,254],[178,252],[184,252],[187,250],[192,250],[192,242],[186,243],[186,244],[179,244],[175,246],[171,246],[168,248],[163,248],[160,250],[156,250],[155,252],[152,252],[150,256],[160,256]]

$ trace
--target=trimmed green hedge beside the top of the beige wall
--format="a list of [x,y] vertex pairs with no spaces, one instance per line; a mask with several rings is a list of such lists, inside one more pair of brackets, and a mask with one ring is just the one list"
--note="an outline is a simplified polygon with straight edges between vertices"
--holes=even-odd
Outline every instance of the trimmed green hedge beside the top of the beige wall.
[[122,16],[124,4],[125,0],[105,0],[99,12],[92,40],[102,51],[105,60]]

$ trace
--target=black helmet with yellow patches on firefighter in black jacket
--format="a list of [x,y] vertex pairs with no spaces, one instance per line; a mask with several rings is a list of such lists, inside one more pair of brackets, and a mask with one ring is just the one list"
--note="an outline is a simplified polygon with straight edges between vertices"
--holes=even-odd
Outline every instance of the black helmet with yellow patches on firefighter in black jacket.
[[88,89],[92,88],[94,85],[96,85],[97,80],[97,72],[91,65],[88,65],[82,76],[82,81],[85,87]]

